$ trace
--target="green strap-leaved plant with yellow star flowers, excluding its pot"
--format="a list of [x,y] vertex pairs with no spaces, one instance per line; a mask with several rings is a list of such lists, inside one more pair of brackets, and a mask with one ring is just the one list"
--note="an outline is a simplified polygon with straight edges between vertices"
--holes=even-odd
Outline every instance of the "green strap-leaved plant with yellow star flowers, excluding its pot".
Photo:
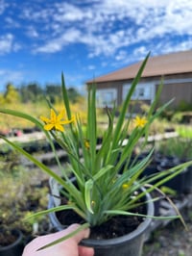
[[[138,202],[140,203],[141,198],[145,201],[146,192],[151,192],[156,187],[160,187],[164,182],[178,175],[186,166],[192,164],[192,162],[188,162],[154,176],[141,178],[143,170],[150,163],[153,150],[142,161],[136,159],[131,161],[135,146],[139,143],[141,149],[145,147],[150,125],[169,104],[167,103],[156,110],[161,88],[159,87],[148,113],[135,118],[132,118],[132,115],[129,115],[129,117],[127,115],[132,93],[139,82],[148,58],[149,56],[141,64],[137,75],[133,79],[132,87],[126,95],[119,116],[117,118],[115,116],[115,106],[112,110],[107,108],[108,127],[104,131],[100,145],[97,145],[98,123],[96,87],[94,85],[88,87],[85,132],[81,116],[78,113],[71,113],[63,75],[61,76],[61,90],[64,111],[58,113],[57,110],[52,108],[49,118],[41,116],[40,119],[36,119],[31,115],[0,109],[1,113],[20,116],[35,123],[45,133],[55,152],[62,176],[58,175],[49,166],[37,161],[34,156],[24,151],[17,144],[3,138],[36,166],[53,177],[64,192],[68,201],[67,205],[40,214],[70,209],[84,218],[84,226],[100,225],[115,215],[142,216],[139,213],[133,213],[132,209],[138,205]],[[128,138],[128,131],[132,122],[134,128]],[[140,140],[141,138],[142,140]],[[68,178],[63,169],[53,141],[57,141],[67,153],[70,161],[69,168],[76,179],[76,183]],[[140,191],[141,187],[152,182],[154,186],[148,187],[145,191]]]

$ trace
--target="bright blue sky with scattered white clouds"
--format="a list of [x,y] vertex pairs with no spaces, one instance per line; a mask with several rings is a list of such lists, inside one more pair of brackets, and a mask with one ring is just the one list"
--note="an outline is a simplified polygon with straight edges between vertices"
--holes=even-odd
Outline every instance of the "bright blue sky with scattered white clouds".
[[192,49],[192,0],[0,0],[0,90],[84,81]]

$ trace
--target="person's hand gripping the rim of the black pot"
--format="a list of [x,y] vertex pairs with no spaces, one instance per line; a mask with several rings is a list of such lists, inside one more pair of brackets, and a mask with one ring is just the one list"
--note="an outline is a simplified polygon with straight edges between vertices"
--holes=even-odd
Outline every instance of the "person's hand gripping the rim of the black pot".
[[67,239],[61,243],[57,243],[53,246],[47,247],[42,250],[37,250],[38,248],[52,243],[55,240],[60,239],[63,236],[75,231],[80,225],[73,224],[67,229],[60,232],[49,234],[46,236],[37,237],[31,243],[28,243],[23,251],[22,256],[93,256],[93,248],[88,248],[78,245],[83,239],[88,238],[89,229],[84,229],[77,233],[70,239]]

